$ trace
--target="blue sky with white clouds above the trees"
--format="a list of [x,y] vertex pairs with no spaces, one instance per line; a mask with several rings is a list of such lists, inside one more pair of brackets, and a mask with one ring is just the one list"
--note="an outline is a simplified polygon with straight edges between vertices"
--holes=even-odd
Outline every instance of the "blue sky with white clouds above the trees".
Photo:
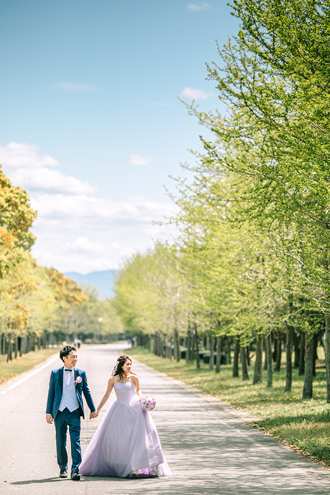
[[184,104],[222,108],[205,62],[238,22],[226,0],[11,0],[0,15],[0,163],[38,209],[33,254],[118,268],[169,235],[170,175],[206,135]]

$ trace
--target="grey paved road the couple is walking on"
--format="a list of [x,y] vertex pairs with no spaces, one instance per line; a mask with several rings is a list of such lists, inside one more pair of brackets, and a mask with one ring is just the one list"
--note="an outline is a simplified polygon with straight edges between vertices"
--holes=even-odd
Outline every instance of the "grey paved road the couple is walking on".
[[[102,397],[118,345],[79,350],[97,404]],[[330,472],[304,460],[288,447],[247,424],[237,410],[191,387],[133,363],[141,389],[157,398],[152,411],[173,476],[156,479],[58,478],[53,425],[45,421],[50,370],[55,357],[0,388],[0,494],[62,495],[324,495]],[[11,386],[11,388],[10,388]],[[113,394],[114,395],[114,394]],[[110,402],[114,396],[110,396]],[[102,414],[82,422],[86,448]],[[328,479],[329,478],[329,479]]]

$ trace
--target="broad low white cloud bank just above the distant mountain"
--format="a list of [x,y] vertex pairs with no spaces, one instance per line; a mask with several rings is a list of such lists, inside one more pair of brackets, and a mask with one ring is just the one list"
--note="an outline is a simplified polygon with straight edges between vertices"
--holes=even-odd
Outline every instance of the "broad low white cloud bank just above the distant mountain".
[[125,258],[152,248],[156,239],[168,239],[176,230],[153,223],[173,214],[176,205],[140,196],[109,201],[43,195],[32,206],[39,209],[32,254],[39,264],[61,272],[118,268]]

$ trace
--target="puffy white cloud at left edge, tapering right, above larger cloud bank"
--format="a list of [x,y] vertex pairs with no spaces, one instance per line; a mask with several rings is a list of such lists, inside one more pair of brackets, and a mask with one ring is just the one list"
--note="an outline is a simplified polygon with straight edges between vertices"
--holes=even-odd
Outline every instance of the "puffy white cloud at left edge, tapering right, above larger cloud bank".
[[0,164],[15,186],[30,191],[66,194],[91,194],[97,191],[96,187],[87,182],[49,168],[58,167],[60,163],[52,156],[41,155],[35,145],[12,142],[0,146]]

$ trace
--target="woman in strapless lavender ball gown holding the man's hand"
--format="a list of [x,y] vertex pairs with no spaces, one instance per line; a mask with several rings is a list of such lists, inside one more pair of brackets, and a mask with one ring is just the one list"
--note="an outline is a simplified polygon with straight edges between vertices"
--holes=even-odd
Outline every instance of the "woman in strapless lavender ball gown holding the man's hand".
[[96,409],[97,414],[112,389],[117,400],[105,413],[85,450],[80,474],[120,478],[172,474],[155,423],[150,413],[142,411],[139,379],[131,372],[131,367],[132,360],[127,354],[118,357],[106,392]]

